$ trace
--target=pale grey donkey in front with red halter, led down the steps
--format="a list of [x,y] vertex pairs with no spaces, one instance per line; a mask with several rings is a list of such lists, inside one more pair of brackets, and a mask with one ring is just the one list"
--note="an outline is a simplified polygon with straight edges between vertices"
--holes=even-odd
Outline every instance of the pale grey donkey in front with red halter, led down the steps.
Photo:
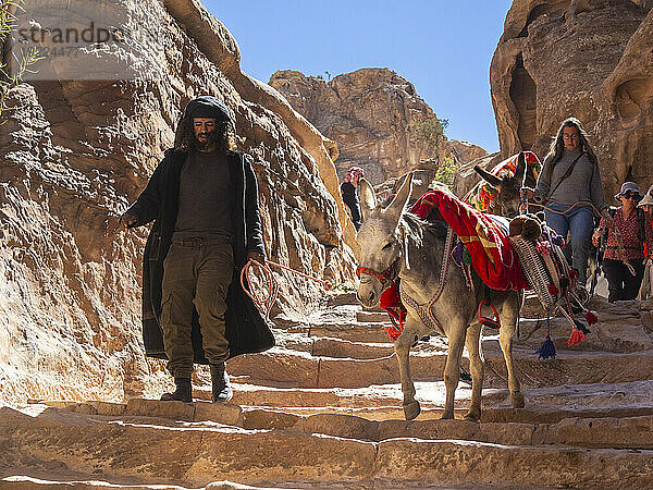
[[[410,378],[410,347],[418,339],[433,332],[444,334],[448,340],[444,369],[446,402],[442,418],[454,418],[454,394],[465,345],[469,352],[472,378],[471,406],[465,418],[480,419],[484,366],[480,343],[481,324],[476,314],[479,304],[488,296],[496,307],[501,322],[500,344],[506,362],[513,406],[523,407],[523,396],[513,367],[513,335],[517,328],[521,294],[489,290],[476,272],[472,272],[473,289],[470,290],[457,267],[448,268],[444,278],[440,278],[442,261],[448,258],[444,257],[445,235],[453,232],[444,221],[424,222],[405,212],[411,191],[412,174],[408,174],[394,200],[383,208],[377,205],[371,184],[362,180],[360,195],[364,220],[358,233],[361,249],[359,271],[364,271],[360,273],[358,301],[366,307],[377,306],[381,293],[392,281],[401,279],[403,303],[408,315],[394,348],[399,364],[406,419],[411,420],[420,413]],[[430,321],[432,324],[429,327],[420,319],[418,308],[430,304],[436,293],[441,296],[429,311],[430,318],[436,321]]]

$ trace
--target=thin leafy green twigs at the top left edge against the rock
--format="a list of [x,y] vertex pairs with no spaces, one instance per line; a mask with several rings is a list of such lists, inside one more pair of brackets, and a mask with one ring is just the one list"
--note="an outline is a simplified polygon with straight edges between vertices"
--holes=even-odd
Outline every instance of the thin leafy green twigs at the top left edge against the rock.
[[[0,46],[4,45],[16,27],[17,17],[14,12],[23,9],[22,3],[23,0],[0,0]],[[9,90],[23,82],[25,73],[36,73],[29,66],[42,59],[38,56],[37,48],[29,48],[27,51],[21,52],[20,57],[16,57],[15,53],[13,56],[16,58],[16,69],[12,75],[7,73],[8,63],[0,60],[0,125],[7,122],[2,119],[2,112],[7,110]]]

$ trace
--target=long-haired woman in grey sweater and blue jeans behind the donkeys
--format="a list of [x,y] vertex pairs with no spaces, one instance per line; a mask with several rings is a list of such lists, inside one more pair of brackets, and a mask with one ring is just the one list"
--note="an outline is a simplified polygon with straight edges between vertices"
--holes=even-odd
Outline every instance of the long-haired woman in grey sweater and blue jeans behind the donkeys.
[[546,224],[570,243],[565,246],[565,256],[578,271],[578,282],[587,282],[588,256],[594,211],[612,225],[603,193],[599,161],[588,143],[587,133],[576,118],[560,124],[556,137],[544,158],[542,173],[533,189],[526,189],[527,197],[545,203]]

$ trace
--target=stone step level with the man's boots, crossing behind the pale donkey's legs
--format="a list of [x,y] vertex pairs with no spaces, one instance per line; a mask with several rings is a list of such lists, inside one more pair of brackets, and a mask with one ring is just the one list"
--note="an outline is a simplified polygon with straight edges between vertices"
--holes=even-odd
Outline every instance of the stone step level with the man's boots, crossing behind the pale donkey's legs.
[[[503,356],[486,350],[485,387],[505,388]],[[427,353],[412,355],[410,370],[414,380],[440,381],[446,355]],[[653,355],[609,353],[558,353],[555,359],[540,360],[532,353],[517,352],[515,363],[525,388],[581,383],[615,383],[646,380],[653,372]],[[468,359],[463,359],[468,369]],[[370,384],[399,382],[394,356],[375,359],[312,357],[307,353],[275,351],[236,357],[229,362],[230,375],[242,382],[278,388],[362,388]]]

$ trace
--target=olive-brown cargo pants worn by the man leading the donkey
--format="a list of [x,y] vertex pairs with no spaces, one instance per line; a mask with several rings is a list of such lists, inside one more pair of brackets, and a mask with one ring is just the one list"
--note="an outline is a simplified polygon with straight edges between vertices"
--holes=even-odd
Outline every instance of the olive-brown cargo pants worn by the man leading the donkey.
[[202,347],[209,363],[229,357],[224,336],[226,293],[234,256],[227,236],[174,238],[163,261],[161,329],[168,369],[175,378],[190,378],[193,306],[199,315]]

